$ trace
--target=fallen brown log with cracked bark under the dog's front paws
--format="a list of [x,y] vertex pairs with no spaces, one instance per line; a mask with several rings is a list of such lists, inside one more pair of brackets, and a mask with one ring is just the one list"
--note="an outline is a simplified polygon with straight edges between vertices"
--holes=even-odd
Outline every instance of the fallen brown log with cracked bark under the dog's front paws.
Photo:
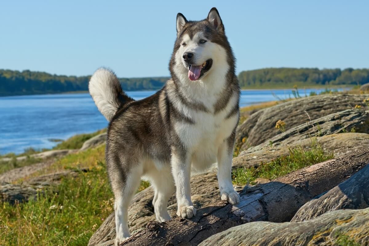
[[[252,221],[286,222],[311,198],[337,186],[369,163],[369,150],[306,167],[269,183],[248,188],[240,203],[220,201],[201,208],[192,219],[176,217],[146,228],[121,245],[198,245],[204,239],[233,226]],[[110,245],[110,244],[101,244]]]

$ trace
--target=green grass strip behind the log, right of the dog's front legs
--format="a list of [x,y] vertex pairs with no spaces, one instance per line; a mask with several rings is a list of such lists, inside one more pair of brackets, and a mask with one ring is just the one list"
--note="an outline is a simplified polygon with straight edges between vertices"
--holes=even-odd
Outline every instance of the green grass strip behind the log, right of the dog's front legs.
[[324,162],[333,158],[333,154],[324,153],[318,145],[312,145],[310,150],[303,150],[301,147],[290,149],[287,156],[278,157],[271,162],[262,163],[259,167],[244,168],[239,167],[232,171],[232,181],[234,185],[254,184],[256,178],[276,179],[292,171],[316,163]]

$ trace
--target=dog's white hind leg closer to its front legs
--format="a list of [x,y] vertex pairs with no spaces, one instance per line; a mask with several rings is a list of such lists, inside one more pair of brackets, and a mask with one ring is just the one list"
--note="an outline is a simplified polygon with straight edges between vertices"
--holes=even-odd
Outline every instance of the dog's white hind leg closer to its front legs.
[[150,173],[150,178],[155,190],[152,204],[154,205],[156,219],[159,222],[167,221],[170,219],[167,210],[168,200],[175,191],[172,173],[170,173],[170,169],[163,168]]

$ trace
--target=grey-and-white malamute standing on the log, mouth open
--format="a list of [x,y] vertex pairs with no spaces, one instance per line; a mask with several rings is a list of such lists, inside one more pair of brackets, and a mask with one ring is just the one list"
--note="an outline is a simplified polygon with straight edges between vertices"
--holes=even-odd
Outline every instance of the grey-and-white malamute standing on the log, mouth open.
[[176,29],[171,79],[154,95],[133,100],[105,68],[89,82],[95,104],[110,122],[106,165],[115,197],[115,245],[130,237],[127,209],[142,177],[155,189],[152,203],[159,222],[170,219],[167,203],[174,191],[177,215],[196,215],[190,173],[216,162],[221,200],[239,202],[231,165],[240,89],[223,22],[216,8],[201,21],[187,21],[178,13]]

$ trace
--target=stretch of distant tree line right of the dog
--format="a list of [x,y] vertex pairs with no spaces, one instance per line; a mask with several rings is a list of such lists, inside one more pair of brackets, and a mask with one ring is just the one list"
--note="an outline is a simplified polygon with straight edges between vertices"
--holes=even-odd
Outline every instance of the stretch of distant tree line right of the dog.
[[369,69],[265,68],[239,73],[242,88],[355,86],[369,83]]

